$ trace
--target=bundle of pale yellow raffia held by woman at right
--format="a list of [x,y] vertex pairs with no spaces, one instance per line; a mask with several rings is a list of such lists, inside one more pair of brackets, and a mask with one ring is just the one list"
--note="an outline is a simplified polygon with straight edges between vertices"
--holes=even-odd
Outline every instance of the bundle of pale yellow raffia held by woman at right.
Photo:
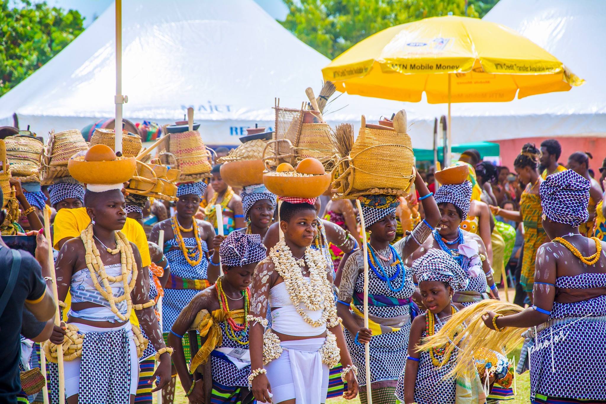
[[[501,332],[488,328],[482,320],[482,315],[488,311],[508,316],[516,314],[524,308],[513,303],[501,302],[499,300],[485,299],[474,305],[467,306],[458,313],[454,313],[448,322],[431,337],[427,337],[419,346],[419,351],[427,351],[431,348],[446,346],[444,357],[457,349],[456,365],[448,373],[447,377],[453,375],[468,376],[476,371],[475,359],[486,349],[510,353],[524,341],[522,332],[524,329],[506,327]],[[464,331],[460,332],[462,327]]]

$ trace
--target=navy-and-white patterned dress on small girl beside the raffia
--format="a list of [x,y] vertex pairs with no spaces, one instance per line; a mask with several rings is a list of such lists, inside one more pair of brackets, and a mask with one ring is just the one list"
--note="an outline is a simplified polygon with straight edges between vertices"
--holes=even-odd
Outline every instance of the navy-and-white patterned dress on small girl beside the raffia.
[[[433,313],[425,313],[425,316],[428,315],[433,316]],[[444,326],[445,323],[445,321],[442,322],[439,319],[436,320],[434,322],[435,333],[438,333],[438,331],[442,328],[442,326]],[[427,337],[427,327],[423,329],[421,337]],[[438,367],[435,366],[433,362],[431,362],[429,351],[421,351],[421,353],[419,353],[419,370],[417,372],[415,381],[416,403],[436,404],[455,402],[456,380],[454,377],[448,377],[447,379],[445,379],[445,376],[453,369],[456,362],[457,354],[458,349],[454,349],[450,358],[448,359],[448,362],[444,363],[444,365],[442,365],[441,367]],[[443,355],[436,354],[435,357],[436,359],[440,360],[440,362],[444,360]],[[404,373],[408,362],[409,361],[404,358],[404,362],[402,362],[402,371],[399,374],[398,385],[396,387],[396,397],[402,403],[404,403],[405,394]]]

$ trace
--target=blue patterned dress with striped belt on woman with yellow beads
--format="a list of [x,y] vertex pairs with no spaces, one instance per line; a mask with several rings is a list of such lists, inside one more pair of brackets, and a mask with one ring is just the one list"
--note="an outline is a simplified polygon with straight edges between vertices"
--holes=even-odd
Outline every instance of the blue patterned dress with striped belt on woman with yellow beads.
[[[185,247],[188,250],[196,251],[196,239],[185,237],[183,239]],[[173,323],[181,313],[181,310],[188,305],[196,294],[208,285],[208,247],[205,240],[201,240],[202,254],[204,256],[195,267],[192,267],[183,255],[179,243],[175,239],[168,240],[165,243],[164,256],[170,264],[171,279],[168,280],[164,288],[164,297],[162,297],[162,332],[170,333]],[[178,248],[171,248],[178,247]],[[198,260],[199,252],[190,257],[191,260]],[[174,278],[173,278],[174,276]],[[199,289],[193,287],[199,286]]]

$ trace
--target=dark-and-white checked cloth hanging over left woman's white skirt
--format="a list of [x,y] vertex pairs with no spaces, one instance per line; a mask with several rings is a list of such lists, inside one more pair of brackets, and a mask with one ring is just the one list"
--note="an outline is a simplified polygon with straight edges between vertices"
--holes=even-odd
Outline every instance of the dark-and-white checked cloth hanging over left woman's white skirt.
[[88,332],[82,345],[78,402],[123,404],[130,400],[130,340],[126,329]]

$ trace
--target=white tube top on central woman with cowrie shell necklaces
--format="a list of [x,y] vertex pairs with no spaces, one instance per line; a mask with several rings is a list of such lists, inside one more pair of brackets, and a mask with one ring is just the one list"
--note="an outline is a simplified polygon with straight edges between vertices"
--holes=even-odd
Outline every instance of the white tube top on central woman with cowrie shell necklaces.
[[[308,277],[304,278],[310,282]],[[293,303],[290,301],[288,291],[284,282],[273,286],[269,291],[269,306],[271,310],[271,328],[281,334],[297,337],[319,336],[326,331],[326,325],[315,327],[303,319],[297,313]],[[309,310],[304,303],[300,308],[313,320],[322,317],[323,310]]]

